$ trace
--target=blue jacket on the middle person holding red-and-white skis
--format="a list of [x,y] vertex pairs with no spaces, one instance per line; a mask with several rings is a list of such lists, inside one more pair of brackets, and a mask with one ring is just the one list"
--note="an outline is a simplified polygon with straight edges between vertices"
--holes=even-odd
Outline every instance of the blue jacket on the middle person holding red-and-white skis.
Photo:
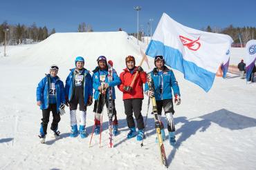
[[[100,95],[100,90],[98,87],[100,86],[100,75],[105,75],[105,83],[109,84],[109,87],[112,88],[112,98],[113,100],[116,99],[116,92],[115,92],[115,86],[120,85],[121,81],[120,78],[118,77],[118,74],[116,73],[116,70],[113,69],[113,78],[112,81],[109,82],[109,72],[108,69],[106,70],[100,70],[99,67],[96,67],[95,70],[93,70],[93,89],[94,89],[94,96],[93,98],[95,100],[98,100],[99,95]],[[109,98],[109,88],[106,91],[107,98]]]

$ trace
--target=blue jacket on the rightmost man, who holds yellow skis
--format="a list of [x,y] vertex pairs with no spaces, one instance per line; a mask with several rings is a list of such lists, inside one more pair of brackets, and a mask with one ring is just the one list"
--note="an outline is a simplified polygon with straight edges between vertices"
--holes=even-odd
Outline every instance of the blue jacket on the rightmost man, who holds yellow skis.
[[[149,73],[154,81],[154,94],[156,100],[172,99],[172,89],[174,91],[174,95],[178,94],[181,96],[178,82],[176,81],[172,70],[169,70],[166,66],[164,66],[163,72],[158,72],[157,68],[155,67],[154,70]],[[145,83],[144,91],[146,92],[147,90],[149,90],[149,86],[147,83]]]

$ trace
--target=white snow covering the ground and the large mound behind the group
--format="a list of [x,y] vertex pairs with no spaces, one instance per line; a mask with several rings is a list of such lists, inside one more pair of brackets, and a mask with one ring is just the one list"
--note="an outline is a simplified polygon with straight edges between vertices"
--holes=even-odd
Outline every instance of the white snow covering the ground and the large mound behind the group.
[[[125,32],[57,33],[36,45],[8,46],[8,56],[0,57],[0,167],[1,169],[164,169],[161,166],[154,119],[149,114],[144,147],[136,138],[127,140],[122,94],[116,88],[116,109],[120,135],[109,149],[107,109],[104,108],[102,148],[99,136],[89,140],[93,126],[93,105],[87,109],[86,131],[89,138],[70,138],[68,109],[59,124],[61,138],[46,138],[41,144],[37,135],[42,111],[36,105],[37,83],[48,73],[51,64],[60,66],[59,76],[66,80],[74,67],[75,56],[85,58],[89,70],[97,65],[99,55],[113,61],[118,74],[125,68],[125,56],[136,56],[147,45]],[[0,47],[1,54],[3,47]],[[231,50],[234,64],[240,60],[240,48]],[[151,68],[154,63],[149,59]],[[147,65],[143,63],[147,71]],[[181,89],[181,105],[175,106],[176,147],[165,140],[170,169],[255,169],[256,166],[256,83],[246,84],[235,74],[216,77],[210,92],[186,81],[174,70]],[[150,107],[151,109],[151,107]],[[147,97],[143,101],[145,118]],[[48,126],[50,134],[51,120]],[[166,125],[166,120],[163,119]],[[167,134],[167,129],[165,129]]]

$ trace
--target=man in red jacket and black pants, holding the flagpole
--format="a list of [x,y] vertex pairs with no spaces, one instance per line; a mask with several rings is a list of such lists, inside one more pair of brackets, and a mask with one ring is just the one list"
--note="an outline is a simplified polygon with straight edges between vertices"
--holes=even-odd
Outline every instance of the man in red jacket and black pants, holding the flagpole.
[[[125,62],[127,68],[120,74],[121,84],[118,85],[118,88],[123,92],[122,100],[124,100],[127,125],[130,129],[127,138],[133,138],[137,135],[137,140],[140,141],[144,137],[144,122],[140,111],[144,98],[143,83],[147,81],[147,74],[142,67],[135,66],[134,56],[127,56]],[[138,76],[131,87],[131,81],[134,79],[136,72],[138,72]],[[137,122],[138,134],[135,128],[133,112]]]

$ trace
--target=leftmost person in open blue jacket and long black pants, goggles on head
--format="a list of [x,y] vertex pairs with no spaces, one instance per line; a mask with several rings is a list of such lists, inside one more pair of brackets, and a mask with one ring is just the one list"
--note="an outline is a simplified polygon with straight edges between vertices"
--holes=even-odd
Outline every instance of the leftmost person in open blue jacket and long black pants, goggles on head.
[[50,111],[53,113],[53,123],[51,124],[53,137],[60,136],[60,131],[58,131],[60,106],[64,106],[66,101],[63,82],[57,76],[58,70],[57,65],[51,65],[50,74],[46,74],[37,86],[37,105],[42,109],[43,115],[39,135],[42,143],[46,140]]

